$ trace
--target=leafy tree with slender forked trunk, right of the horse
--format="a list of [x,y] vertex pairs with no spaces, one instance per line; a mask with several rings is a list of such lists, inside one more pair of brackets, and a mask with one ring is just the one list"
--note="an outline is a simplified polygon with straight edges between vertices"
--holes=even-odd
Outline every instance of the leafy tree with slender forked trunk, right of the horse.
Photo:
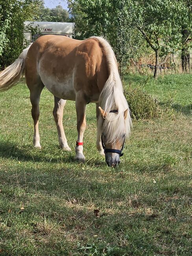
[[136,0],[135,8],[135,26],[155,51],[154,78],[157,78],[159,67],[166,63],[171,52],[182,47],[181,26],[188,20],[188,14],[183,1],[177,0]]

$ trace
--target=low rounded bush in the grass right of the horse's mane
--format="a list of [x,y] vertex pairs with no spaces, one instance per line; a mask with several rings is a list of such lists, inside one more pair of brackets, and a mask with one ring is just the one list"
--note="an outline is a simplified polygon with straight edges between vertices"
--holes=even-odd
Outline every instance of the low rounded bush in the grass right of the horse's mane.
[[160,116],[161,108],[157,99],[147,94],[141,87],[127,86],[124,95],[133,119],[154,119]]

